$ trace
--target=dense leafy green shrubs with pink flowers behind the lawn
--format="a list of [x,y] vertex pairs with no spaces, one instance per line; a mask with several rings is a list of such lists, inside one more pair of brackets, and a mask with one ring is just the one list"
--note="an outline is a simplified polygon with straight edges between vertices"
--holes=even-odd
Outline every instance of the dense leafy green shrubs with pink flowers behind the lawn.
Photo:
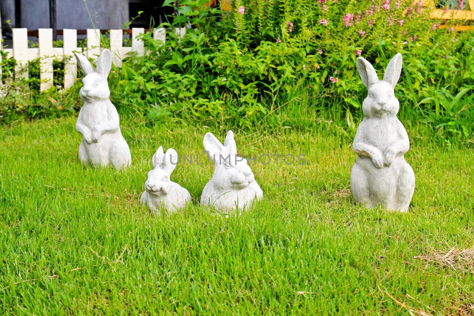
[[[150,124],[174,117],[252,129],[271,115],[284,113],[288,121],[329,107],[345,124],[362,117],[366,94],[356,58],[382,75],[400,52],[401,116],[429,124],[440,138],[472,141],[472,33],[440,29],[420,2],[236,0],[231,12],[206,2],[180,1],[179,14],[160,26],[167,28],[165,43],[146,33],[147,54],[113,68],[111,99],[121,113],[139,113]],[[186,34],[176,35],[175,27],[187,27]],[[77,108],[78,96],[64,102]]]

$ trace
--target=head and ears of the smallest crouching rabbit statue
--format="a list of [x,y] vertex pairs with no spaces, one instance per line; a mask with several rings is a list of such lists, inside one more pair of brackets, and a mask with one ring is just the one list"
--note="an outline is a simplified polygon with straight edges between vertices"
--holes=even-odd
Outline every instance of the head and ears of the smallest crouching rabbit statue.
[[170,175],[178,163],[178,153],[173,148],[163,153],[163,147],[160,146],[153,155],[152,161],[154,169],[148,172],[145,190],[152,196],[164,197],[170,190]]

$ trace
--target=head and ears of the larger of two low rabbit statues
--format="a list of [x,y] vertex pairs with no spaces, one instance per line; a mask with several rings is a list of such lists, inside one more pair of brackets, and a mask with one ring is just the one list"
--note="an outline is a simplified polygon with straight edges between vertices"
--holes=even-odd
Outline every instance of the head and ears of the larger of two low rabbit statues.
[[227,132],[224,145],[211,133],[204,135],[203,144],[214,164],[212,179],[216,189],[240,190],[255,181],[247,161],[237,157],[237,146],[232,131]]

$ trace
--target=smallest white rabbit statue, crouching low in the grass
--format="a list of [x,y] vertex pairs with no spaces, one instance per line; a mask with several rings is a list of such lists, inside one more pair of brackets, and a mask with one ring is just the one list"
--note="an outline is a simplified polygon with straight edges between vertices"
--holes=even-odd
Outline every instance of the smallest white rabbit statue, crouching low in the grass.
[[145,181],[145,192],[142,194],[140,203],[147,205],[150,211],[159,213],[162,208],[168,212],[175,212],[185,208],[186,203],[191,202],[188,190],[182,188],[178,183],[170,181],[170,175],[178,163],[178,154],[173,148],[169,148],[166,154],[160,146],[153,155],[153,170],[148,172]]

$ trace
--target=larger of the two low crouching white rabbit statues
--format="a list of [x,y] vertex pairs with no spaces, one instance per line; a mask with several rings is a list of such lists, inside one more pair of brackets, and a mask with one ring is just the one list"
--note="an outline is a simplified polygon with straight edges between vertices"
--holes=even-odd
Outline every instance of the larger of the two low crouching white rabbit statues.
[[214,164],[214,174],[202,190],[201,205],[217,211],[249,208],[263,197],[252,170],[244,158],[237,157],[234,133],[228,131],[224,145],[211,133],[204,136],[204,148]]

